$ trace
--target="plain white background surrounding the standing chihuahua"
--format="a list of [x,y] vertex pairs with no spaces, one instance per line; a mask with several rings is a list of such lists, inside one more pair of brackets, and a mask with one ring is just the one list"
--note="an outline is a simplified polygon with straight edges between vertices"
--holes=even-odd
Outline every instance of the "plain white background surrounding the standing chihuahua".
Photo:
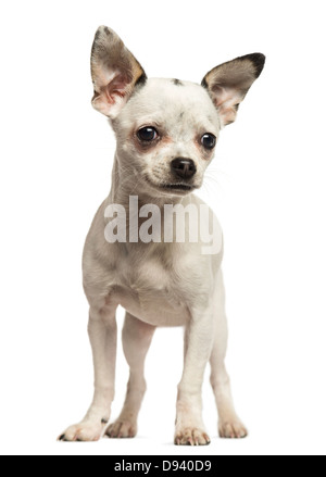
[[[324,3],[1,2],[1,453],[325,453]],[[267,55],[202,190],[225,233],[227,363],[247,440],[217,439],[206,379],[211,447],[172,444],[183,337],[162,329],[147,362],[139,437],[55,442],[92,396],[80,256],[115,148],[90,106],[89,53],[101,24],[149,76],[200,81],[224,61]],[[113,417],[126,380],[120,348]]]

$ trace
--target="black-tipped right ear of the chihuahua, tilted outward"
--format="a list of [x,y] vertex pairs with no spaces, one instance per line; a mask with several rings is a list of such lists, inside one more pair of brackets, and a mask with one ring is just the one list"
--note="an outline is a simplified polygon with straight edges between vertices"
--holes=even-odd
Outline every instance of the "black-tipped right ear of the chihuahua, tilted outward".
[[236,121],[240,102],[261,75],[264,65],[263,54],[248,54],[215,67],[203,78],[202,86],[209,90],[223,126]]

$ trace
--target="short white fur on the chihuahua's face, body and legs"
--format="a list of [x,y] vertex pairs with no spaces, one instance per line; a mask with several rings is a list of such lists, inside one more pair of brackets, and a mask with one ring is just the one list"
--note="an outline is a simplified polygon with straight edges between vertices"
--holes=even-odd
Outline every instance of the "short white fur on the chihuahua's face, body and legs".
[[[136,435],[146,390],[143,363],[154,329],[160,326],[184,326],[186,330],[175,442],[210,442],[201,416],[201,388],[209,362],[220,412],[220,434],[244,437],[247,430],[235,412],[224,366],[227,325],[221,271],[223,250],[215,255],[204,255],[201,242],[108,243],[104,238],[110,219],[104,217],[108,205],[121,204],[128,211],[133,194],[139,196],[139,206],[154,203],[163,210],[167,203],[192,203],[200,208],[202,202],[196,196],[173,193],[163,190],[162,185],[172,180],[171,161],[184,156],[191,158],[197,165],[193,188],[201,186],[213,152],[203,151],[198,138],[208,131],[218,137],[218,112],[201,86],[185,81],[176,86],[168,79],[150,79],[135,90],[126,104],[113,106],[117,150],[112,190],[95,217],[84,252],[95,398],[82,423],[70,427],[61,439],[98,440],[105,431],[110,437]],[[120,109],[117,116],[116,108]],[[146,151],[137,146],[136,133],[148,125],[155,126],[163,140]],[[108,428],[114,397],[118,305],[127,312],[123,343],[130,379],[121,416]]]

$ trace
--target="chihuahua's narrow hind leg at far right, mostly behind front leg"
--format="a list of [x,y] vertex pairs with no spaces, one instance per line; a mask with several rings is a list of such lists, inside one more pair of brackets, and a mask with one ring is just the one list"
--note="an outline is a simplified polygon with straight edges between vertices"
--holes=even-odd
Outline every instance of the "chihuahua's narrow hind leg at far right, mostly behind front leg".
[[243,438],[248,431],[235,411],[230,380],[225,368],[227,349],[227,319],[225,313],[225,290],[222,272],[220,272],[216,291],[216,328],[213,352],[211,355],[211,384],[218,409],[218,431],[222,438]]

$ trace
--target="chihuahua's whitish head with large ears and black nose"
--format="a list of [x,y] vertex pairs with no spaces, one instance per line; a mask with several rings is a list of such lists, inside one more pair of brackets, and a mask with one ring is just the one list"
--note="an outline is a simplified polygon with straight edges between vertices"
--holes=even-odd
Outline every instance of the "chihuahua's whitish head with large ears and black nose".
[[264,63],[260,53],[238,58],[201,85],[148,79],[120,37],[100,27],[91,53],[92,105],[111,120],[122,171],[153,197],[200,188],[220,130],[236,120]]

